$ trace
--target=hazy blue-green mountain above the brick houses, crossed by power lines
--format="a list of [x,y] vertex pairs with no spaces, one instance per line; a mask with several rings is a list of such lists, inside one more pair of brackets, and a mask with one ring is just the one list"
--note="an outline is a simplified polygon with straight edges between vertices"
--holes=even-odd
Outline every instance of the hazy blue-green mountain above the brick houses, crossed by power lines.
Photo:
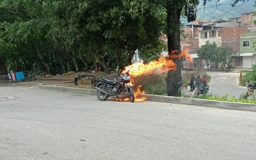
[[[197,7],[198,12],[196,14],[197,15],[196,19],[206,20],[206,21],[212,20],[212,19],[220,19],[220,18],[229,19],[232,17],[242,17],[242,13],[256,11],[256,8],[254,7],[255,0],[250,0],[248,2],[245,1],[246,3],[241,1],[241,2],[238,2],[235,7],[231,7],[230,4],[233,2],[234,0],[220,0],[220,2],[217,2],[216,4],[216,0],[211,0],[210,2],[207,2],[204,9],[203,2],[202,0],[200,0],[200,4]],[[181,17],[180,20],[183,21],[185,25],[188,24],[188,21],[186,18]]]

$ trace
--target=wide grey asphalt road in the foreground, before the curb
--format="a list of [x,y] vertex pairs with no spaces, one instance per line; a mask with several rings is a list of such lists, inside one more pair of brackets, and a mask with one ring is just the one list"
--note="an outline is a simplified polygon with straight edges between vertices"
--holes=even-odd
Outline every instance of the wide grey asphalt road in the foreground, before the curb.
[[16,97],[0,100],[0,159],[256,158],[256,112],[16,85],[0,87]]

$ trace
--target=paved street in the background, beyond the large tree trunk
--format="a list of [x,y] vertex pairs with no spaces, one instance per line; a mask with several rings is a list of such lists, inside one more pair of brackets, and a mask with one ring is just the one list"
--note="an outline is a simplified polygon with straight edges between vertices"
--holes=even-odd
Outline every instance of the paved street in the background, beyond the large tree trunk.
[[[246,87],[239,86],[238,77],[240,73],[206,72],[206,74],[212,77],[211,82],[207,85],[210,86],[210,93],[214,95],[224,96],[228,94],[229,98],[231,98],[235,94],[239,98],[240,94],[248,91]],[[194,92],[189,92],[189,90],[190,86],[188,86],[187,90],[183,89],[181,92],[187,95],[194,95]]]

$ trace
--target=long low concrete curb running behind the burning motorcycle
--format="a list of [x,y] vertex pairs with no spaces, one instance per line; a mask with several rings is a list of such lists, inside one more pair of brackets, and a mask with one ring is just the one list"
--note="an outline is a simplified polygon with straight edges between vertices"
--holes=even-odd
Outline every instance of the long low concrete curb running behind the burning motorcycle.
[[[71,82],[62,82],[62,83],[71,83]],[[58,83],[51,83],[51,84],[58,84]],[[47,84],[38,84],[38,86],[41,89],[96,95],[96,90],[93,90],[93,89],[49,86]],[[184,98],[184,97],[159,96],[159,95],[151,95],[151,94],[143,94],[141,96],[146,97],[148,101],[155,101],[155,102],[166,102],[166,103],[187,104],[187,105],[202,106],[202,107],[256,111],[256,104],[225,102],[225,101],[217,101],[217,100],[203,100],[203,99]]]

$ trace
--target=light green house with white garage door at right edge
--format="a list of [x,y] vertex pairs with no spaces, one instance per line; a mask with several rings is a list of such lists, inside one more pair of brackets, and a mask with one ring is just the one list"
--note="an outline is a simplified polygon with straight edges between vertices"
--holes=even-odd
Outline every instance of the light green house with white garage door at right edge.
[[240,34],[240,52],[237,53],[236,65],[241,68],[252,68],[256,64],[256,32]]

